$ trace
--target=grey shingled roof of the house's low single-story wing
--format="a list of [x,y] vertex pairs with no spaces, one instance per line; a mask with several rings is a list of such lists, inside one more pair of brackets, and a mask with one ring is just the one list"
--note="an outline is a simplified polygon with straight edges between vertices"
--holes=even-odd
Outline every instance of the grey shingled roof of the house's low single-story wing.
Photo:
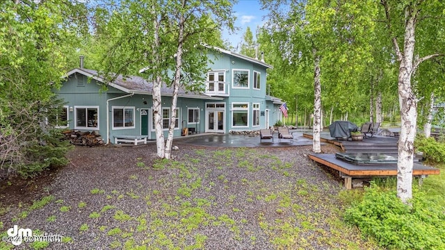
[[[152,94],[153,83],[146,81],[140,76],[122,76],[118,75],[117,78],[111,83],[108,83],[103,76],[100,76],[96,70],[93,69],[72,69],[67,72],[66,76],[70,76],[74,73],[83,74],[90,78],[95,79],[101,83],[107,84],[113,88],[121,90],[129,94]],[[163,83],[161,87],[161,95],[171,97],[173,94],[173,88],[168,87]],[[178,97],[194,98],[194,99],[211,99],[211,100],[223,100],[221,97],[210,97],[206,94],[200,94],[196,92],[190,92],[184,88],[179,88]]]

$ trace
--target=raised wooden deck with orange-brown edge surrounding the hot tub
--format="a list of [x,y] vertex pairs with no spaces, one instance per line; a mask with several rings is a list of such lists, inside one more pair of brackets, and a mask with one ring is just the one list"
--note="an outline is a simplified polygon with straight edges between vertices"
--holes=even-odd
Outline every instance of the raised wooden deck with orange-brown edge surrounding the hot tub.
[[[305,138],[312,138],[311,134],[304,133]],[[362,142],[350,140],[337,140],[330,138],[329,134],[323,133],[321,142],[327,142],[341,147],[348,153],[385,153],[387,155],[397,155],[397,138],[376,137],[364,138]],[[372,176],[397,176],[397,163],[373,163],[373,164],[353,164],[338,159],[334,154],[311,153],[309,158],[332,169],[339,171],[345,179],[345,187],[352,188],[353,178],[369,178]],[[414,163],[413,176],[419,176],[419,182],[430,174],[439,174],[437,168]]]

